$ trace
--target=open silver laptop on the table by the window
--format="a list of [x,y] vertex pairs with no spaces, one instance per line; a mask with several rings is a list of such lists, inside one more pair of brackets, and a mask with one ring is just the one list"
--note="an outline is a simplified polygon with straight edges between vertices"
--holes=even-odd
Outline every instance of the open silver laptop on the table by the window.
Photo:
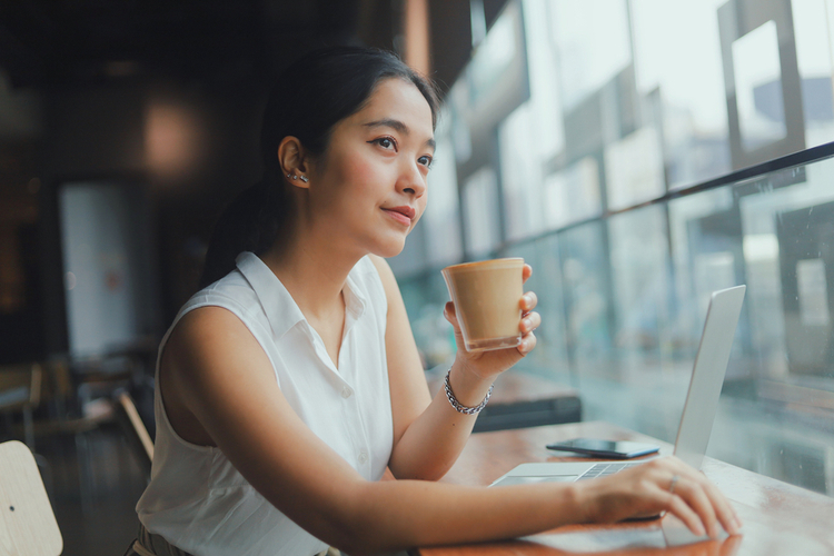
[[[746,286],[714,291],[706,311],[704,332],[701,335],[695,366],[689,379],[684,413],[675,440],[675,456],[701,469],[709,444],[718,397],[729,361],[733,337],[742,312]],[[574,481],[610,475],[638,461],[549,461],[522,464],[499,477],[490,486],[522,485],[527,483]]]

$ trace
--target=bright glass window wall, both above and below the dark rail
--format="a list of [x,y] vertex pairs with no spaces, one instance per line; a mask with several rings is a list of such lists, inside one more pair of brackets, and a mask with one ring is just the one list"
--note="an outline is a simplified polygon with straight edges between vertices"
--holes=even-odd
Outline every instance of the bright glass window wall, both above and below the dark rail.
[[[543,324],[518,371],[577,388],[588,420],[673,441],[709,294],[746,284],[708,455],[831,496],[834,159],[707,181],[834,139],[833,6],[510,0],[489,33],[514,21],[526,69],[478,60],[513,77],[486,111],[468,75],[453,86],[431,200],[438,226],[463,215],[466,259],[534,267]],[[454,353],[435,266],[454,249],[425,236],[400,284],[434,366]]]

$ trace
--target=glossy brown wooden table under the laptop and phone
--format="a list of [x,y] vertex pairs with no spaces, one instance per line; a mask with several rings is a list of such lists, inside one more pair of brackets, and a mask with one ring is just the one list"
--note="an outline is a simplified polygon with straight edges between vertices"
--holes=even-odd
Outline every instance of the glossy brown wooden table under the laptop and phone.
[[[489,485],[525,461],[576,461],[556,457],[544,446],[554,440],[589,436],[617,440],[652,441],[661,454],[672,446],[602,421],[576,423],[473,435],[458,461],[443,481]],[[554,529],[525,540],[480,545],[418,548],[413,556],[553,556],[558,554],[623,554],[674,556],[780,556],[834,554],[834,499],[738,467],[706,458],[704,473],[733,503],[744,522],[742,534],[721,540],[669,546],[688,536],[672,516],[652,522],[616,525],[577,525]],[[665,534],[665,536],[664,536]],[[658,545],[659,542],[659,545]],[[599,549],[599,547],[606,547]]]

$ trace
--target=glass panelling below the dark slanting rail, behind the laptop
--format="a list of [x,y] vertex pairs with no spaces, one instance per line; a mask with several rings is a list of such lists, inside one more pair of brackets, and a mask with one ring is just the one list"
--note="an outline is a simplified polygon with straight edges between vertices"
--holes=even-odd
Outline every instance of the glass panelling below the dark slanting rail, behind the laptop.
[[[709,292],[747,285],[707,455],[834,496],[834,143],[514,244],[538,347],[514,371],[583,418],[674,441]],[[485,257],[486,258],[486,257]],[[427,367],[454,357],[439,268],[400,278]]]

